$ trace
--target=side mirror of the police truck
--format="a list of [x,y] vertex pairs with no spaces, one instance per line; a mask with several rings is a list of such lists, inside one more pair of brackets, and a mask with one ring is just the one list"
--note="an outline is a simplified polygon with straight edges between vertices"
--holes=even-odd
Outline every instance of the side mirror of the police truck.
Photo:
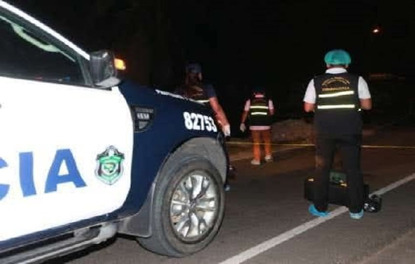
[[114,54],[108,50],[100,50],[89,54],[89,70],[94,85],[112,87],[120,83]]

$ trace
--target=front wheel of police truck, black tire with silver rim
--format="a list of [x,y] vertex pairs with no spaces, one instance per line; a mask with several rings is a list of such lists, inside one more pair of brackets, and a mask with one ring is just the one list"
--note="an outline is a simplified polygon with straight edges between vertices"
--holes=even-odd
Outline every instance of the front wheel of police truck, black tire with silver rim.
[[[151,236],[137,239],[143,247],[152,252],[170,257],[184,257],[200,251],[216,236],[224,216],[225,192],[220,173],[206,158],[186,153],[186,151],[175,154],[166,162],[157,179],[150,218]],[[192,206],[176,204],[177,197],[186,196],[184,195],[186,192],[183,191],[183,186],[189,183],[185,181],[186,179],[190,179],[190,185],[196,185],[193,177],[203,179],[200,183],[200,193],[204,192],[204,194],[200,197],[198,194],[195,198],[199,197],[198,201],[205,199],[205,208],[200,209],[201,207],[195,206],[195,203],[192,203]],[[207,185],[206,188],[204,184]],[[180,186],[182,186],[181,189],[179,189]],[[186,190],[189,195],[188,189]],[[194,190],[192,189],[191,192],[193,193]],[[214,196],[216,199],[212,198]],[[216,206],[213,210],[210,210],[209,205],[211,204]],[[182,214],[171,217],[173,208],[177,208],[177,206],[182,210]],[[187,213],[183,212],[185,207],[190,208]],[[197,208],[195,209],[195,207]],[[208,210],[205,210],[206,208]],[[212,211],[215,211],[214,214]],[[208,221],[204,219],[200,221],[200,215],[208,216]],[[188,218],[189,221],[173,223],[174,219],[182,218]],[[197,226],[191,224],[195,219],[198,222]],[[187,232],[185,232],[186,227],[180,228],[182,225],[179,225],[186,226],[186,223],[189,224]],[[197,234],[190,237],[189,234],[195,233],[195,228],[197,228]],[[185,231],[182,232],[182,230]],[[199,234],[199,232],[201,233]],[[187,235],[188,237],[186,237]]]

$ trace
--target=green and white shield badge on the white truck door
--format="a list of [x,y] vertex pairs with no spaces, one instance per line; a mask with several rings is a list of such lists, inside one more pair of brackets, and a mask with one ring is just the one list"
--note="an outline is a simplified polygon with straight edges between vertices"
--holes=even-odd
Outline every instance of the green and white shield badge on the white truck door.
[[114,146],[109,146],[97,156],[95,174],[103,183],[112,185],[123,175],[124,154]]

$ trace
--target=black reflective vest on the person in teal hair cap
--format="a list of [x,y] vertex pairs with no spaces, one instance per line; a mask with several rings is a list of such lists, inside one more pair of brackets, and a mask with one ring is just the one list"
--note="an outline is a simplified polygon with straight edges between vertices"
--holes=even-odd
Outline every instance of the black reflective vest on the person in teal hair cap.
[[317,133],[361,134],[358,80],[359,76],[347,72],[326,73],[314,78],[314,127]]

